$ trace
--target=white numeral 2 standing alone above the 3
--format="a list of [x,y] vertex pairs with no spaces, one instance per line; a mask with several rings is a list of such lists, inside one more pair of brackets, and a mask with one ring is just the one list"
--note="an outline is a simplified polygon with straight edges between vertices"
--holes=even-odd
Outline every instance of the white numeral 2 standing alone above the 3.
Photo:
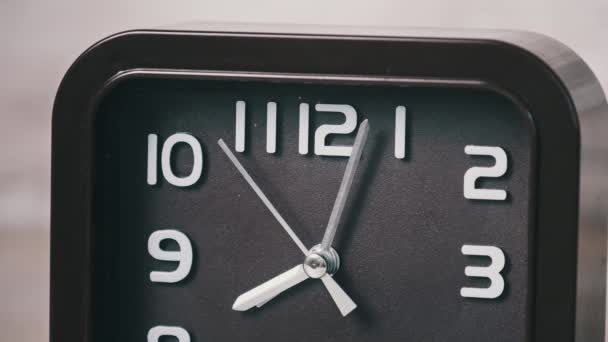
[[504,201],[507,192],[500,189],[480,189],[475,183],[481,177],[497,178],[507,172],[507,153],[500,147],[467,145],[468,155],[490,156],[496,161],[491,167],[472,167],[464,174],[464,197],[468,199]]

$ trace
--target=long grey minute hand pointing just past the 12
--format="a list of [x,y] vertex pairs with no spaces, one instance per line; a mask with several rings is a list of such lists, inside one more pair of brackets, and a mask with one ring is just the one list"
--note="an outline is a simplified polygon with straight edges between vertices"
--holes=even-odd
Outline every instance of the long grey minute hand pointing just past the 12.
[[348,158],[348,162],[346,164],[346,171],[344,171],[344,177],[342,178],[342,183],[340,184],[340,190],[338,190],[338,196],[336,196],[334,209],[329,217],[327,228],[325,228],[323,241],[321,241],[321,248],[323,250],[329,251],[334,237],[336,236],[336,230],[340,224],[340,218],[342,216],[342,212],[344,211],[344,206],[346,205],[346,200],[348,199],[348,194],[352,187],[353,179],[355,178],[355,173],[357,172],[357,167],[359,166],[359,161],[361,160],[361,153],[363,152],[363,147],[367,141],[368,133],[369,124],[366,119],[359,126],[359,131],[357,131],[357,136],[355,137],[355,143],[353,144],[350,158]]

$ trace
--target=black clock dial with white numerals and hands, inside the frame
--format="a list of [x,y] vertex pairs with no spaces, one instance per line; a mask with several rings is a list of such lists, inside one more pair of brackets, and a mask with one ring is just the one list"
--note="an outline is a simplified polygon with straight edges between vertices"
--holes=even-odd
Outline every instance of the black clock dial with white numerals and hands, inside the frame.
[[528,339],[535,139],[507,97],[147,78],[96,118],[95,341]]

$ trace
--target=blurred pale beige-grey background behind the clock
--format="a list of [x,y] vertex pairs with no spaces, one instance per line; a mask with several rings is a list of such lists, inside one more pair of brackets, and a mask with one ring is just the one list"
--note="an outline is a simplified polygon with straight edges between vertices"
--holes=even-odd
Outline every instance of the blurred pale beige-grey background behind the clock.
[[97,40],[192,21],[531,30],[607,89],[606,18],[606,0],[0,0],[0,341],[48,340],[51,108]]

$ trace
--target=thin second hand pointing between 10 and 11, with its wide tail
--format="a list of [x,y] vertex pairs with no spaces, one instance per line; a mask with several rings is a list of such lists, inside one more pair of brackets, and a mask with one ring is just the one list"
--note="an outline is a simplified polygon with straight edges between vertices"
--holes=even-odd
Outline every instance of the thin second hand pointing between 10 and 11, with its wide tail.
[[[222,149],[222,151],[224,151],[226,156],[228,156],[228,159],[230,159],[232,164],[234,164],[236,169],[241,173],[243,178],[245,178],[245,181],[247,181],[249,186],[253,189],[253,191],[258,195],[258,197],[266,205],[268,210],[270,210],[270,212],[272,213],[274,218],[277,221],[279,221],[279,224],[281,224],[281,227],[283,227],[283,229],[291,237],[293,242],[295,242],[295,244],[300,248],[300,250],[302,251],[302,253],[304,255],[308,255],[309,254],[308,249],[306,249],[306,247],[304,246],[302,241],[298,238],[298,236],[293,231],[293,229],[291,229],[291,227],[283,219],[281,214],[279,214],[277,209],[272,205],[270,200],[268,200],[268,197],[266,197],[266,195],[264,195],[264,193],[262,192],[260,187],[257,186],[257,184],[255,183],[253,178],[251,178],[251,176],[249,175],[247,170],[245,170],[243,165],[241,165],[241,163],[236,158],[234,153],[232,153],[232,151],[230,151],[230,148],[226,145],[224,140],[219,139],[217,141],[217,143],[220,146],[220,148]],[[340,285],[338,285],[338,283],[336,283],[334,278],[332,278],[329,275],[325,275],[321,278],[321,280],[323,281],[323,285],[325,285],[325,288],[329,292],[329,295],[334,300],[334,302],[336,303],[336,306],[338,307],[338,309],[340,310],[340,312],[342,313],[343,316],[346,316],[349,312],[351,312],[352,310],[354,310],[357,307],[357,304],[355,304],[355,302],[353,302],[353,300],[346,294],[346,292],[344,292],[344,290],[340,287]],[[270,299],[272,299],[272,298],[268,298],[268,300],[270,300]],[[261,302],[260,305],[264,305],[264,302]]]

